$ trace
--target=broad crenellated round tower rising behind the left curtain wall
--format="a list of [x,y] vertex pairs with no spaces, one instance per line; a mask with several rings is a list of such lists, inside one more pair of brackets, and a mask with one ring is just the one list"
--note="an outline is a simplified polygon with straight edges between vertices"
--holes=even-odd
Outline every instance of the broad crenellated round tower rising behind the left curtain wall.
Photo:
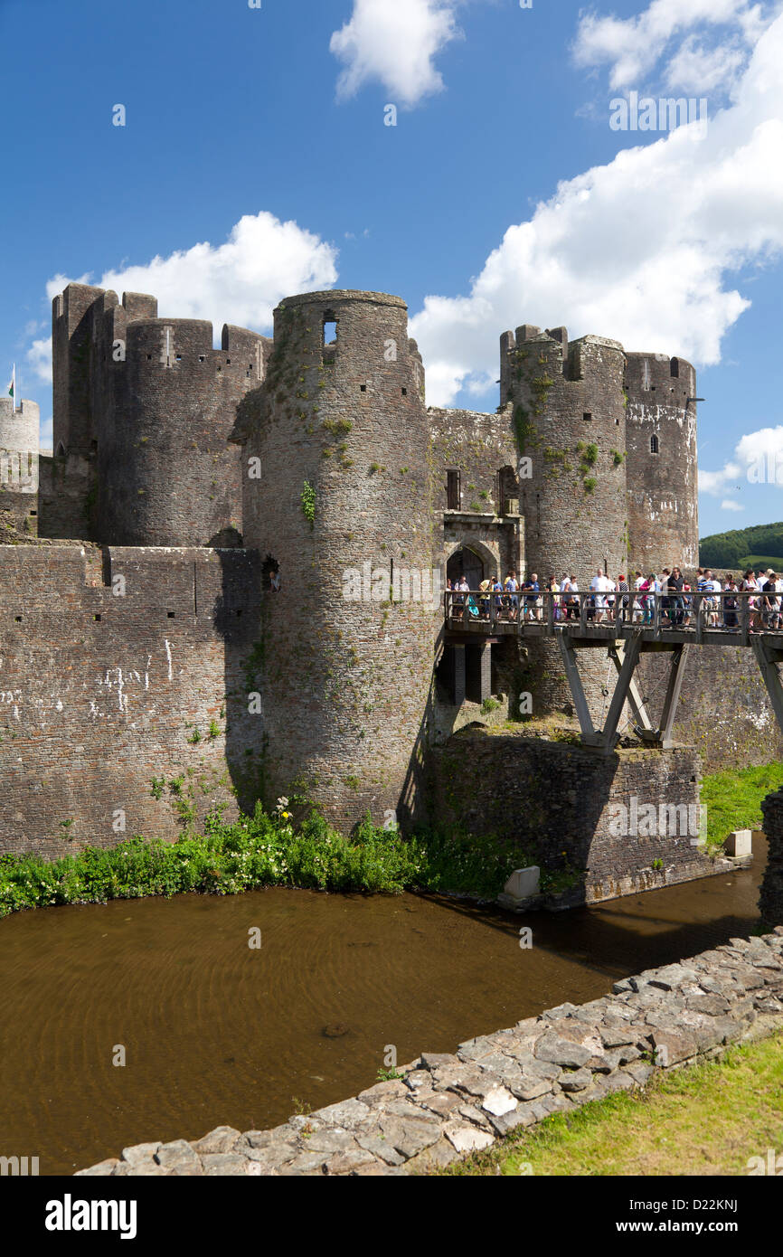
[[211,323],[128,321],[97,442],[102,541],[240,542],[240,456],[227,441],[238,402],[263,378],[261,342],[231,328],[214,349]]

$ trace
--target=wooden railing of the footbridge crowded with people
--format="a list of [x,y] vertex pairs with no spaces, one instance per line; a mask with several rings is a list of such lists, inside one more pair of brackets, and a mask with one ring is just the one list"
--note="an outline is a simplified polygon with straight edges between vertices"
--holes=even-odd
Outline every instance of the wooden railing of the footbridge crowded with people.
[[615,592],[550,590],[446,590],[444,595],[449,628],[485,628],[515,625],[520,636],[558,628],[586,630],[615,627],[645,628],[654,632],[691,630],[696,640],[718,630],[736,632],[747,645],[752,632],[783,631],[783,593],[763,590],[721,590],[720,592],[661,592],[630,590]]

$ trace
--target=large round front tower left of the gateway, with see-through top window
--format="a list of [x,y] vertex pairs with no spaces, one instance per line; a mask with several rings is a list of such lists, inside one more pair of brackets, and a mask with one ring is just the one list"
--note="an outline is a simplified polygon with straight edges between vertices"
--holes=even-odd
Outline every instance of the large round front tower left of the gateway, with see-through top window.
[[238,439],[245,543],[264,562],[266,798],[304,793],[343,830],[367,810],[403,823],[442,616],[424,372],[405,302],[364,292],[283,302]]

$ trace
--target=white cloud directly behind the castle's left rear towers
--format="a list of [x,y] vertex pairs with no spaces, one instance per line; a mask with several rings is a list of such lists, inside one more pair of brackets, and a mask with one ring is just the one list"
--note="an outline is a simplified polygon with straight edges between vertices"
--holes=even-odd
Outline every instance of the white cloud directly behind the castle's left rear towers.
[[[331,288],[337,279],[337,250],[295,222],[280,222],[261,211],[245,215],[225,244],[209,241],[156,256],[143,265],[107,270],[99,288],[152,293],[161,317],[211,319],[215,327],[236,323],[269,329],[271,312],[283,297]],[[47,284],[49,299],[70,283],[54,275]],[[77,283],[92,283],[89,275]],[[34,341],[28,362],[41,380],[52,380],[52,344]]]

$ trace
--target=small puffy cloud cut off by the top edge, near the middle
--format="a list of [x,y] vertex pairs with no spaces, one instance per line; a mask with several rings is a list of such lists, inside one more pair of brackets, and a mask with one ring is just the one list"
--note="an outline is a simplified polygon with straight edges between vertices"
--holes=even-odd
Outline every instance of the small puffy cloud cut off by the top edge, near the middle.
[[459,35],[452,0],[353,0],[329,50],[344,63],[339,99],[380,82],[393,104],[412,108],[444,85],[434,59]]

